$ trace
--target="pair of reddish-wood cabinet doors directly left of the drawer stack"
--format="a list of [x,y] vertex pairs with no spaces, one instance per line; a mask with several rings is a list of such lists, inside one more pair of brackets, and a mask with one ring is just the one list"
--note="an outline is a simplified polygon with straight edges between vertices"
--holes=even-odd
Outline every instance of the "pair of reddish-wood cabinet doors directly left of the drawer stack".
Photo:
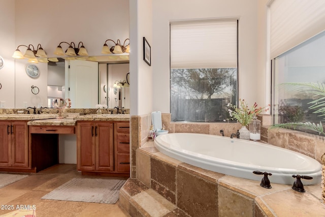
[[110,172],[114,170],[113,122],[78,121],[77,169]]

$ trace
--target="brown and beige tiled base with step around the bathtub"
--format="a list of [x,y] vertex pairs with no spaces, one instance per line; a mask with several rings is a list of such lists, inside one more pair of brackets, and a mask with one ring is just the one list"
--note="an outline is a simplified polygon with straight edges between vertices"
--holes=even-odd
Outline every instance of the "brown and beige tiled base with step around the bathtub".
[[136,154],[137,178],[120,191],[120,205],[131,216],[325,216],[320,184],[299,193],[270,177],[272,189],[265,189],[259,181],[172,159],[152,142]]

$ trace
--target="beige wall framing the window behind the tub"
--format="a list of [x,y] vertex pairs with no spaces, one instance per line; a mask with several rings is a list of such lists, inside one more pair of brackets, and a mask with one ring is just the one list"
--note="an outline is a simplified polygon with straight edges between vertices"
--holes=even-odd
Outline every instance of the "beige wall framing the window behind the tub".
[[[169,23],[192,19],[239,19],[239,97],[250,104],[257,101],[261,91],[257,70],[258,8],[257,0],[166,0],[153,1],[153,110],[170,112]],[[195,42],[193,42],[195,46]],[[263,72],[262,72],[263,73]],[[262,94],[261,94],[262,95]],[[263,102],[257,102],[264,104]]]

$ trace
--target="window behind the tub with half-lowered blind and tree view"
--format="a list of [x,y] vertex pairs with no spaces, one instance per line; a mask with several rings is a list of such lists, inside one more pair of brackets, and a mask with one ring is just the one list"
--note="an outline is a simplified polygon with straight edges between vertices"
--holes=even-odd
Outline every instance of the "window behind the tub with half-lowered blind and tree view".
[[237,104],[238,20],[170,24],[172,121],[222,122]]

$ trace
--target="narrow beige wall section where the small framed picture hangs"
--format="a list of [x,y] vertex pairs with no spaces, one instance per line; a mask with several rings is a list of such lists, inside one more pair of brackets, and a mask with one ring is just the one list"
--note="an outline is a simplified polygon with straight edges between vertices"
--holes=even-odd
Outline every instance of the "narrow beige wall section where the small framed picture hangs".
[[132,115],[151,113],[153,104],[152,70],[156,63],[148,66],[143,60],[143,37],[154,50],[152,39],[152,0],[132,0],[130,5],[130,98]]

